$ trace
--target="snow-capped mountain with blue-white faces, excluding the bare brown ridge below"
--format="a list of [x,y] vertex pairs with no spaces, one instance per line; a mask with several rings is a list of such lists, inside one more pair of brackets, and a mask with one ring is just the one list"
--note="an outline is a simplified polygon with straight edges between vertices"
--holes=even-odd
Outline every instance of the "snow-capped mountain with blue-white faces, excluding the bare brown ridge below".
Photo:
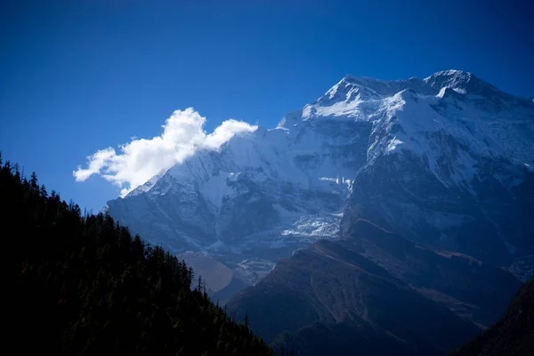
[[529,99],[457,70],[347,76],[276,128],[199,151],[107,209],[152,243],[237,270],[334,239],[354,216],[500,263],[532,253],[533,167]]

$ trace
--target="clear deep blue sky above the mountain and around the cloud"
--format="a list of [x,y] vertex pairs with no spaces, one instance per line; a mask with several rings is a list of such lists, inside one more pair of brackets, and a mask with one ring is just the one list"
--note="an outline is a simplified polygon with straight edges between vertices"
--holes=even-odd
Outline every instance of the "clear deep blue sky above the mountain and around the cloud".
[[531,1],[3,1],[0,150],[99,210],[118,188],[72,171],[194,107],[211,132],[276,125],[346,74],[472,71],[534,96]]

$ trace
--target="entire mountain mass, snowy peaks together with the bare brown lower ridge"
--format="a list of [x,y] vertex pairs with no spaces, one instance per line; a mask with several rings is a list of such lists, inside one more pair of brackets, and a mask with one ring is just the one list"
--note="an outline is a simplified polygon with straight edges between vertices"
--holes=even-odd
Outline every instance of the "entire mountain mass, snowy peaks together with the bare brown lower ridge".
[[534,102],[457,70],[348,76],[106,209],[213,298],[255,285],[228,306],[279,348],[442,354],[531,276]]

